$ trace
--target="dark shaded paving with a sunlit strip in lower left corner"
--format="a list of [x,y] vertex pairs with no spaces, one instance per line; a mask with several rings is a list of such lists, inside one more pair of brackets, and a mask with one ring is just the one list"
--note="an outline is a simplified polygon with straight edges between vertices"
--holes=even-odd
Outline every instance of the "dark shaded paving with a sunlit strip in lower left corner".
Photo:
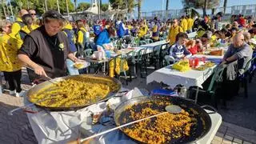
[[17,111],[8,115],[10,110],[22,106],[22,98],[0,95],[0,143],[1,144],[34,144],[37,143],[30,122],[24,112]]

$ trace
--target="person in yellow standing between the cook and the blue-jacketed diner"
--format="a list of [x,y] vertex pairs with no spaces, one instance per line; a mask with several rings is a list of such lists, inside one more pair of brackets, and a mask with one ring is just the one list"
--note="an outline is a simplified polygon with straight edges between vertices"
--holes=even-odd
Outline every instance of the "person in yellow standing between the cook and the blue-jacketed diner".
[[78,56],[82,56],[82,52],[86,46],[86,28],[81,20],[77,21],[78,25]]

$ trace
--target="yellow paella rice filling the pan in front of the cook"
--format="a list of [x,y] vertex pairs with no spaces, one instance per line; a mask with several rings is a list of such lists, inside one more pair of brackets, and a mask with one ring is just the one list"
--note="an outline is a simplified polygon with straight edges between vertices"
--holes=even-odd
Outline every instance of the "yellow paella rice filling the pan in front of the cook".
[[47,107],[83,106],[97,102],[115,90],[118,90],[117,83],[108,78],[79,76],[38,90],[30,96],[30,102]]

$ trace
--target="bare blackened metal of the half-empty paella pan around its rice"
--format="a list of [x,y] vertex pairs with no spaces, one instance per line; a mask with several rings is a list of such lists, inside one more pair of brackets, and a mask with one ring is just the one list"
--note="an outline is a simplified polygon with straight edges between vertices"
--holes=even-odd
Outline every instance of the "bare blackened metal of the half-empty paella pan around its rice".
[[[114,110],[114,122],[117,126],[122,126],[126,122],[133,121],[132,118],[130,118],[130,110],[126,110],[127,107],[131,107],[136,105],[133,110],[135,113],[145,109],[146,105],[143,103],[145,102],[152,102],[152,109],[158,110],[158,111],[164,111],[165,106],[159,106],[159,102],[170,102],[173,105],[180,106],[183,110],[188,112],[189,114],[194,114],[194,118],[197,120],[197,125],[194,125],[190,129],[190,136],[188,137],[182,137],[182,138],[171,138],[171,140],[168,143],[190,143],[198,141],[198,139],[204,137],[210,130],[210,127],[212,125],[209,114],[206,113],[205,110],[202,109],[202,107],[196,105],[194,102],[189,101],[185,98],[180,97],[171,97],[171,96],[142,96],[137,98],[132,98],[126,102],[122,102],[116,110]],[[126,119],[126,122],[124,122],[124,119]],[[129,127],[128,127],[129,128]],[[128,137],[130,135],[124,131],[123,128],[121,128],[122,132],[126,134]],[[175,133],[175,132],[174,132]],[[130,137],[135,142],[143,143],[137,139],[134,139]]]

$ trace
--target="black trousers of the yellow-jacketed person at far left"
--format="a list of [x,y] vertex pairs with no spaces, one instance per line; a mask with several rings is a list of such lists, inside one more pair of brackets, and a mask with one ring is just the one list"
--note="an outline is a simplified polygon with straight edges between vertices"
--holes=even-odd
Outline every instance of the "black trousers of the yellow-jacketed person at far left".
[[12,71],[12,72],[3,72],[6,81],[9,83],[10,90],[16,90],[16,92],[21,92],[21,79],[22,79],[22,70]]

